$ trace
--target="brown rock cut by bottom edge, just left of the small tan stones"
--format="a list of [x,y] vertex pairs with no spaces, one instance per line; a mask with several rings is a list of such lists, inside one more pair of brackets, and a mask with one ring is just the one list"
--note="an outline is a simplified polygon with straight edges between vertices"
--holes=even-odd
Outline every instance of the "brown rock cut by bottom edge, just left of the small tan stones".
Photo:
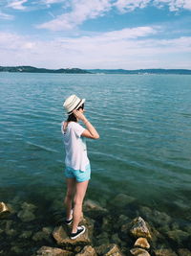
[[96,253],[103,256],[122,256],[117,244],[102,244],[97,246]]

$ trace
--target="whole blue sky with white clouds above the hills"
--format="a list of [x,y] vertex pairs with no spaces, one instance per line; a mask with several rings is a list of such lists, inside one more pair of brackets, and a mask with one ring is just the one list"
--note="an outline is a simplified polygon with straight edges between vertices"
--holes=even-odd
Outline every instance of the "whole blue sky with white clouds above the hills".
[[191,0],[0,0],[0,65],[191,69]]

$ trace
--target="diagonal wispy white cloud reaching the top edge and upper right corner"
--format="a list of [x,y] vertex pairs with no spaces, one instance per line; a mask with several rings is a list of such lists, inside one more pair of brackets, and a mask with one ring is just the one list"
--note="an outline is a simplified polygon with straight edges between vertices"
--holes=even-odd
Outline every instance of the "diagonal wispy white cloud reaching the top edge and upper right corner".
[[72,11],[64,11],[63,14],[54,17],[51,21],[38,25],[38,29],[72,30],[84,21],[105,15],[106,12],[114,8],[119,12],[133,12],[135,9],[143,9],[147,6],[162,8],[167,5],[171,12],[180,9],[191,10],[191,0],[43,0],[43,3],[48,6],[58,2],[63,2],[63,7],[70,6]]

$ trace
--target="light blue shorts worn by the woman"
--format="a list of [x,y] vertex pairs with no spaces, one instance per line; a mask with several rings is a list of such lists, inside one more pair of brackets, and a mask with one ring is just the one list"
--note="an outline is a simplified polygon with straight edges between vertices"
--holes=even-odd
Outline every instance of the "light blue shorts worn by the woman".
[[91,177],[91,166],[88,164],[85,172],[66,166],[65,175],[69,178],[75,178],[77,182],[89,180]]

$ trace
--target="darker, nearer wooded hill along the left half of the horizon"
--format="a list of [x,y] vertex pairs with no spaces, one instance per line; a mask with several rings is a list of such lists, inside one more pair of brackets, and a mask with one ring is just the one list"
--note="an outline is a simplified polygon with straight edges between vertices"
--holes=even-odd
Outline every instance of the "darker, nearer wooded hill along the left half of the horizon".
[[57,74],[89,74],[90,72],[79,68],[47,69],[32,66],[0,66],[0,72],[29,72],[29,73],[57,73]]

